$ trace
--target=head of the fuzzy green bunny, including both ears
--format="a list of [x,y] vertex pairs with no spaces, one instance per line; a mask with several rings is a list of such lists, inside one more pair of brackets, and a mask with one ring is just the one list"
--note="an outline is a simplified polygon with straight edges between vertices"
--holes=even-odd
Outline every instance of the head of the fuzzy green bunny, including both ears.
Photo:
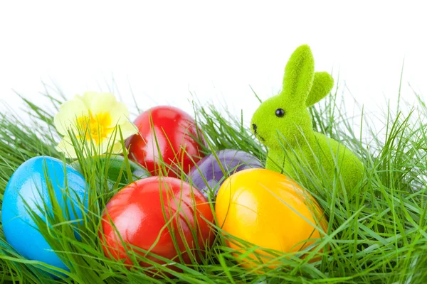
[[268,148],[281,147],[280,134],[290,145],[312,136],[307,107],[325,97],[333,85],[334,80],[327,72],[315,72],[310,47],[301,45],[286,64],[280,94],[260,104],[253,114],[253,133]]

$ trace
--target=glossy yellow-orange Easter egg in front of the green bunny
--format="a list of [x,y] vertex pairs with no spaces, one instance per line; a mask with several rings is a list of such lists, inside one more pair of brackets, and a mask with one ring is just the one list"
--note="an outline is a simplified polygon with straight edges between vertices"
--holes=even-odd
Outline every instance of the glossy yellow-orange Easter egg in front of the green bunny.
[[[223,231],[283,253],[302,251],[320,239],[320,231],[313,224],[324,231],[327,228],[322,209],[307,191],[285,175],[265,169],[231,175],[218,190],[215,211]],[[236,240],[226,239],[228,246],[242,251]],[[241,264],[254,267],[258,260],[255,254],[263,263],[273,257],[257,249],[241,259]],[[277,264],[271,261],[268,267]]]

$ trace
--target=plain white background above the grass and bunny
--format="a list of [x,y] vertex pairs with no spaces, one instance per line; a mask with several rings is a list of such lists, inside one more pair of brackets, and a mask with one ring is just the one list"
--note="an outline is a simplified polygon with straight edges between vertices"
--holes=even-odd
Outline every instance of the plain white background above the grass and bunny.
[[[108,90],[139,107],[228,104],[245,119],[281,88],[292,51],[308,43],[346,102],[369,111],[399,92],[427,94],[427,16],[400,1],[9,1],[0,4],[0,98],[44,104],[43,84],[67,97]],[[412,90],[413,89],[413,90]],[[53,93],[54,94],[54,93]],[[4,103],[3,102],[3,103]],[[4,106],[0,106],[4,111]]]

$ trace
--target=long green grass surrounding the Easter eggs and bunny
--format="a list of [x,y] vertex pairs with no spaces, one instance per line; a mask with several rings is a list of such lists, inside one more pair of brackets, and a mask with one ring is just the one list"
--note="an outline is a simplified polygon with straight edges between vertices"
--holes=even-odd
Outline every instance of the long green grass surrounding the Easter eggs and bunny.
[[[50,96],[53,110],[26,101],[32,124],[24,124],[16,115],[1,114],[0,118],[0,202],[4,189],[14,170],[25,160],[36,155],[51,155],[64,159],[54,146],[58,134],[52,126],[53,114],[63,97]],[[265,161],[266,149],[255,141],[242,114],[230,114],[226,109],[202,107],[195,103],[196,121],[209,142],[209,153],[234,148],[253,153]],[[317,199],[329,219],[324,237],[317,242],[317,250],[305,259],[298,253],[269,251],[280,266],[268,269],[268,263],[258,263],[252,269],[238,266],[226,239],[236,238],[216,234],[214,245],[205,256],[195,261],[197,251],[189,251],[193,262],[189,266],[174,263],[181,272],[170,266],[151,262],[157,277],[152,278],[147,268],[132,269],[104,255],[98,229],[102,209],[120,188],[110,189],[105,179],[107,165],[97,159],[85,164],[85,178],[90,190],[89,210],[81,224],[70,224],[60,214],[58,204],[48,216],[49,224],[33,215],[43,236],[68,263],[71,271],[55,271],[43,263],[28,261],[11,248],[0,229],[0,283],[426,283],[427,281],[427,115],[426,104],[419,100],[408,114],[385,113],[385,138],[373,129],[352,129],[346,110],[337,103],[337,92],[316,108],[311,108],[313,127],[327,136],[342,141],[359,155],[366,168],[359,194],[340,198],[335,185],[327,185],[307,172],[300,182]],[[228,114],[228,115],[224,115]],[[372,119],[363,116],[363,119]],[[362,119],[360,119],[362,121]],[[362,125],[364,125],[362,121]],[[369,141],[362,133],[371,132]],[[117,135],[120,135],[117,134]],[[82,153],[80,153],[81,155]],[[83,161],[80,156],[80,160]],[[70,161],[68,161],[69,163]],[[124,169],[124,175],[130,175]],[[337,177],[339,178],[339,177]],[[51,190],[50,190],[51,192]],[[284,220],[285,222],[285,220]],[[280,226],[280,224],[278,224]],[[216,231],[222,232],[215,226]],[[82,241],[75,239],[78,230]],[[196,235],[196,234],[195,234]],[[330,248],[326,252],[326,249]],[[243,242],[244,259],[256,248]],[[319,252],[324,249],[324,252]],[[133,248],[127,251],[131,258],[146,261]],[[309,263],[310,258],[320,260]],[[164,261],[167,261],[164,259]],[[153,268],[152,268],[153,269]],[[262,270],[263,274],[255,273]],[[67,277],[53,280],[52,274],[65,273]]]

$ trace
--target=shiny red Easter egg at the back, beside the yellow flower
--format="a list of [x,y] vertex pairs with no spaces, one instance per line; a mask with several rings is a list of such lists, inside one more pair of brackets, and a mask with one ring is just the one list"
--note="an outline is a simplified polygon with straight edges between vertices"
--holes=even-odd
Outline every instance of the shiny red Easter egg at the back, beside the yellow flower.
[[[176,107],[159,106],[140,114],[134,124],[139,133],[126,141],[130,158],[136,160],[152,175],[180,177],[204,155],[205,144],[194,119]],[[161,173],[160,173],[161,172]]]

